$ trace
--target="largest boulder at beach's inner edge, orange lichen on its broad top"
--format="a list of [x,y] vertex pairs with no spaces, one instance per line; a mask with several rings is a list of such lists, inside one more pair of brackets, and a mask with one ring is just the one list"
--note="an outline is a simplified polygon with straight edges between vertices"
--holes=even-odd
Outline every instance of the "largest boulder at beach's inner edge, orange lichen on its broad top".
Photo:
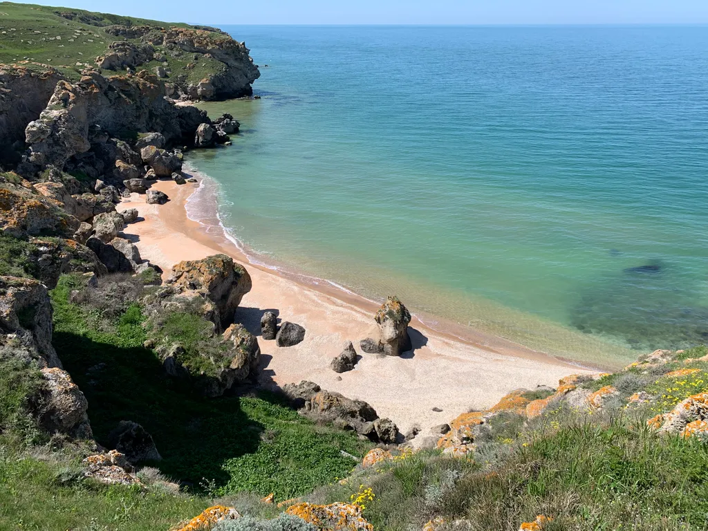
[[248,271],[224,254],[178,263],[167,283],[178,293],[190,292],[210,301],[214,310],[210,319],[220,330],[232,324],[241,299],[251,291]]

